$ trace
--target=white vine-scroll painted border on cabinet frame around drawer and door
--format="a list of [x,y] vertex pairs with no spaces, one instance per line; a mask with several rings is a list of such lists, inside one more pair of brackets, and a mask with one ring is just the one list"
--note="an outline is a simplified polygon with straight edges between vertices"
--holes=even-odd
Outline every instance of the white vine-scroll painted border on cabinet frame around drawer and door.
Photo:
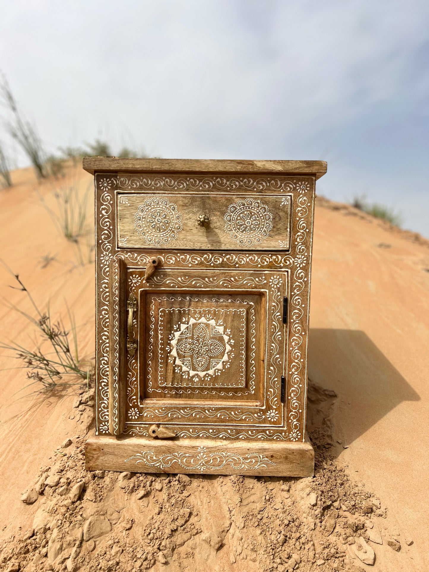
[[[192,427],[182,430],[180,436],[216,436],[217,438],[238,438],[238,439],[289,439],[292,441],[304,440],[304,431],[301,427],[300,419],[305,414],[305,393],[302,391],[307,371],[303,367],[306,362],[307,341],[304,339],[307,334],[308,319],[308,297],[305,292],[304,268],[310,263],[309,239],[311,236],[312,220],[312,200],[307,194],[313,188],[313,177],[240,177],[240,176],[138,176],[120,177],[112,174],[98,173],[95,177],[95,186],[98,196],[97,212],[97,377],[98,392],[96,396],[97,407],[97,432],[107,433],[109,431],[109,387],[108,387],[108,355],[109,355],[109,335],[108,335],[108,302],[109,302],[109,261],[115,252],[113,240],[113,195],[114,190],[156,190],[156,189],[186,189],[186,190],[210,190],[220,189],[225,191],[235,191],[237,189],[251,190],[252,192],[270,193],[273,191],[295,192],[293,201],[297,203],[293,209],[295,220],[292,221],[292,230],[295,237],[292,237],[291,253],[173,253],[160,252],[162,263],[176,264],[176,267],[191,268],[193,265],[200,265],[206,268],[234,267],[250,265],[255,268],[277,267],[279,269],[293,269],[293,280],[291,284],[291,324],[289,326],[289,347],[288,347],[288,376],[291,383],[288,383],[288,430],[252,430],[246,428],[241,430],[235,427],[212,427],[202,429]],[[121,256],[128,265],[145,265],[149,261],[149,255],[140,252],[123,252]],[[299,263],[298,263],[299,260]],[[132,372],[128,377],[132,376]],[[129,379],[127,382],[129,383]],[[147,435],[144,426],[126,427],[125,434]]]

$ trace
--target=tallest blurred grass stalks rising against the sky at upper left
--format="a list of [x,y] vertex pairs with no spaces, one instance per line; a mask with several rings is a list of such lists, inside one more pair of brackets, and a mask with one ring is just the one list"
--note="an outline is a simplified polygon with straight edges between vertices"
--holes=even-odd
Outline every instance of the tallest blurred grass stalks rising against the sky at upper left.
[[0,80],[0,96],[11,120],[6,122],[6,129],[30,159],[38,178],[46,177],[46,153],[37,129],[23,116],[17,101],[4,76]]

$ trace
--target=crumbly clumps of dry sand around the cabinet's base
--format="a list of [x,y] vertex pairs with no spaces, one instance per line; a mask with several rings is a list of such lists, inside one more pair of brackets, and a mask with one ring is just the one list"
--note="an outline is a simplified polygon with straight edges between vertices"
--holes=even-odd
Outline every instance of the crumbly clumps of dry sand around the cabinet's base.
[[[332,455],[335,394],[312,386],[309,397],[319,423],[315,477],[305,479],[86,472],[90,419],[80,411],[80,433],[22,496],[37,503],[32,526],[9,537],[3,530],[0,569],[352,572],[374,564],[384,541],[400,550],[400,539],[382,534],[379,499]],[[74,410],[82,400],[90,406],[82,394]]]

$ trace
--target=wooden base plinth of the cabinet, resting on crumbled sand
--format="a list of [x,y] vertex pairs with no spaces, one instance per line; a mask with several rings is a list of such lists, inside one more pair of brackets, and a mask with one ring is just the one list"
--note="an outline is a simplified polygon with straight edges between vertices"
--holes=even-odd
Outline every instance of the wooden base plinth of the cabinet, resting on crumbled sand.
[[310,443],[90,436],[86,470],[200,473],[209,475],[312,476]]

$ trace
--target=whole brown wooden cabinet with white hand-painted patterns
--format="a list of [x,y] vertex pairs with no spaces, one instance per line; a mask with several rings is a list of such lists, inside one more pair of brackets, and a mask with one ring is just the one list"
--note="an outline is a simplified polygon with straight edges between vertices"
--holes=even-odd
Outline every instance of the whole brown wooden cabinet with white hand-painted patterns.
[[96,430],[90,470],[313,472],[305,436],[322,161],[90,157]]

